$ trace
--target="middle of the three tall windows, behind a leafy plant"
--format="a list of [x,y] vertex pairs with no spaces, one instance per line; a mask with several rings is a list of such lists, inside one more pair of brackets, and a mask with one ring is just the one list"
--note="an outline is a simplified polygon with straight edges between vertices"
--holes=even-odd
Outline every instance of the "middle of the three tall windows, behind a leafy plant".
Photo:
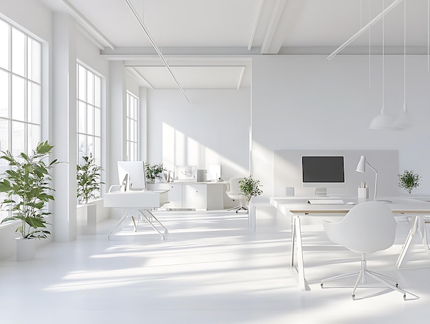
[[80,63],[77,74],[78,163],[82,164],[82,157],[89,156],[101,166],[102,78]]

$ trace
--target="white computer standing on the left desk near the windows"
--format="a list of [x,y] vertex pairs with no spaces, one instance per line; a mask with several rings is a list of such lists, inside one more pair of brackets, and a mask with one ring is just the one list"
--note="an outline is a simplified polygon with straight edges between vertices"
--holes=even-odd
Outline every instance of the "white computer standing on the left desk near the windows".
[[145,163],[143,161],[118,161],[117,164],[121,191],[146,190]]

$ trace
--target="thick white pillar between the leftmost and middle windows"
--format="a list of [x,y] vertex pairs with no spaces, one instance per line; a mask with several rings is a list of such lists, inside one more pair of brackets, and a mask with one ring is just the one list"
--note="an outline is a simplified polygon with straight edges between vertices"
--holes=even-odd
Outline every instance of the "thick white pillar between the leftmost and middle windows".
[[52,17],[52,102],[54,158],[54,241],[73,241],[76,220],[76,21],[67,14]]

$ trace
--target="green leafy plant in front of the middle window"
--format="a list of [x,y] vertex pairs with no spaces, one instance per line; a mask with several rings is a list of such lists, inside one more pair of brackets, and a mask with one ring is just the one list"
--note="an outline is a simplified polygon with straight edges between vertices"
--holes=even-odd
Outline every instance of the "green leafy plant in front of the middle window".
[[94,163],[94,158],[84,156],[83,159],[84,164],[76,166],[78,180],[76,197],[80,197],[80,201],[87,204],[89,199],[100,197],[100,185],[104,184],[100,180],[103,168]]

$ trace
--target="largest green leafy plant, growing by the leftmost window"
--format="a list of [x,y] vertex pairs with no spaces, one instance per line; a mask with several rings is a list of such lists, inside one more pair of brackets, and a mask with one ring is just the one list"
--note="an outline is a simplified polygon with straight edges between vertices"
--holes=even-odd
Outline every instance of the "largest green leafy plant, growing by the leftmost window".
[[31,155],[20,153],[16,158],[10,151],[1,151],[1,159],[7,161],[11,169],[3,173],[0,180],[0,192],[6,193],[1,206],[12,212],[1,223],[20,221],[16,232],[21,238],[47,238],[51,234],[47,230],[49,224],[45,216],[50,215],[45,204],[54,200],[50,187],[52,176],[49,174],[57,160],[45,162],[51,154],[53,146],[48,142],[38,143]]

